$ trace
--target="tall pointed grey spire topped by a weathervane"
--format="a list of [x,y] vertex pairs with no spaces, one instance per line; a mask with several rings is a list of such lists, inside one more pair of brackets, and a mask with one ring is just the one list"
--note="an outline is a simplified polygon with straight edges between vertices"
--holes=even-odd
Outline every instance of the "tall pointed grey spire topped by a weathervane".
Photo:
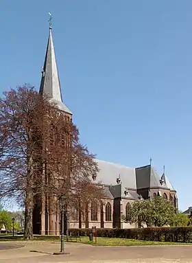
[[55,103],[61,111],[72,114],[71,111],[69,111],[69,108],[67,108],[67,106],[65,106],[62,102],[56,55],[53,46],[51,13],[49,13],[49,16],[49,38],[47,43],[47,51],[45,54],[45,62],[42,70],[42,78],[40,82],[39,92],[42,94],[46,94],[50,98],[50,101]]

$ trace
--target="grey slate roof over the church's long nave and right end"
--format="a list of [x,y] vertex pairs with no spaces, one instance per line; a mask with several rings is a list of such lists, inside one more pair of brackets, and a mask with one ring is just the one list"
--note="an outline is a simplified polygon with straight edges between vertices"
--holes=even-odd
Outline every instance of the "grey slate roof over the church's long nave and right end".
[[[140,199],[141,197],[137,194],[136,190],[141,188],[165,187],[173,190],[173,187],[165,174],[163,178],[166,185],[165,183],[161,185],[160,177],[151,165],[135,169],[98,159],[96,159],[96,161],[99,166],[99,172],[97,173],[97,178],[94,182],[102,185],[110,185],[110,192],[114,198],[122,197],[134,200]],[[121,179],[120,185],[117,184],[118,178]]]

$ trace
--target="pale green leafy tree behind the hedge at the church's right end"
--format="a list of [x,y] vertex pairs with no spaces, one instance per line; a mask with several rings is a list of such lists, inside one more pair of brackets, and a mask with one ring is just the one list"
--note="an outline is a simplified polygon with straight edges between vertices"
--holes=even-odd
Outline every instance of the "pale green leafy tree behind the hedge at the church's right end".
[[169,225],[171,218],[176,214],[172,203],[158,197],[153,200],[135,201],[132,203],[128,218],[125,221],[145,223],[147,227],[163,227]]

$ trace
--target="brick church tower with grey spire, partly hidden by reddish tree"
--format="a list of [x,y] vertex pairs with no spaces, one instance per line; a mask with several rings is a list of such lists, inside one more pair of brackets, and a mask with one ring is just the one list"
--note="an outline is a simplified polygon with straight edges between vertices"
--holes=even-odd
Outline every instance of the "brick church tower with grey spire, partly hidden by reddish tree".
[[[49,25],[49,38],[39,92],[47,95],[50,102],[56,104],[59,111],[62,111],[65,119],[69,122],[72,121],[71,111],[69,111],[69,108],[67,108],[67,106],[62,102],[56,55],[53,47],[51,24]],[[60,216],[56,214],[55,211],[51,211],[51,196],[37,196],[33,213],[33,232],[34,234],[42,235],[60,234]]]

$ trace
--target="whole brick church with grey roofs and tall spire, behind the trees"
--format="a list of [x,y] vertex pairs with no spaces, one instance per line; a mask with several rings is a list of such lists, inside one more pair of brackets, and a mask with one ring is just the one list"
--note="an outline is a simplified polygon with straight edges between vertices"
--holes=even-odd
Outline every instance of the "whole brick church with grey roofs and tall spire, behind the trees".
[[[60,111],[72,121],[72,113],[62,101],[60,80],[53,47],[51,25],[45,63],[40,82],[40,93],[49,96]],[[80,218],[76,209],[69,213],[69,228],[130,228],[138,227],[130,222],[123,222],[122,216],[128,214],[130,204],[134,201],[163,196],[178,209],[176,190],[164,172],[161,176],[152,167],[152,162],[139,168],[130,168],[116,163],[97,160],[99,172],[92,183],[102,185],[106,199],[98,211],[88,211],[86,222]],[[49,204],[48,204],[49,206]],[[90,209],[91,210],[91,209]],[[38,203],[34,209],[33,231],[36,234],[60,235],[60,217],[49,213],[49,207]]]

